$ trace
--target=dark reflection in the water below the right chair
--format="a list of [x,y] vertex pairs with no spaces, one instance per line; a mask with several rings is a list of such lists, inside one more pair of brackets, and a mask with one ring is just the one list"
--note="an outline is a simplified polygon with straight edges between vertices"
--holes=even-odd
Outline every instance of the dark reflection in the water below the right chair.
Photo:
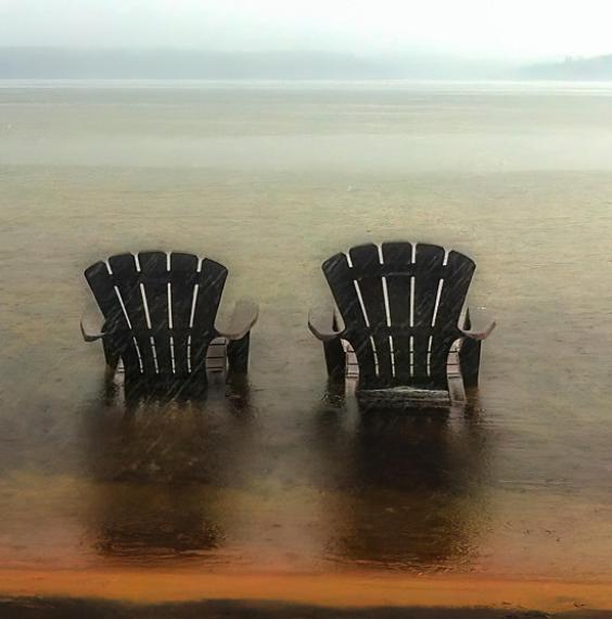
[[337,381],[329,383],[313,444],[334,564],[426,572],[479,560],[495,450],[477,392],[461,414],[418,410],[364,412]]

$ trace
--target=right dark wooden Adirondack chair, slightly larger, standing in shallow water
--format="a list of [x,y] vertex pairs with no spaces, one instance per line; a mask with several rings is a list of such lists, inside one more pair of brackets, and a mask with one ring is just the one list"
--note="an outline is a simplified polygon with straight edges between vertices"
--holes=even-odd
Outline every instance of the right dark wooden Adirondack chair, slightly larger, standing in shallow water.
[[481,344],[466,296],[468,256],[431,244],[387,242],[339,253],[322,265],[333,305],[310,312],[330,377],[358,375],[360,401],[428,406],[466,401],[476,387]]

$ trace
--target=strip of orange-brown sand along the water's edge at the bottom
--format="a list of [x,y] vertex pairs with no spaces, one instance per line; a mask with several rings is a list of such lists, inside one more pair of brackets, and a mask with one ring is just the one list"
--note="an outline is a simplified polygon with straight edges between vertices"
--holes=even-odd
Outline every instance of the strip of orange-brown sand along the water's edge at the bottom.
[[612,611],[608,582],[354,573],[203,573],[192,570],[0,570],[7,598],[90,598],[129,604],[206,601],[335,608],[577,609]]

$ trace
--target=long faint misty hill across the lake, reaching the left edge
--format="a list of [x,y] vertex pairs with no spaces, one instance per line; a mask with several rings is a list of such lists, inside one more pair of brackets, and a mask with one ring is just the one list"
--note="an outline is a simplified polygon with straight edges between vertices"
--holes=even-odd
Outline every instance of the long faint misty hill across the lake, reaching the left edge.
[[0,48],[0,79],[486,79],[500,71],[431,54]]

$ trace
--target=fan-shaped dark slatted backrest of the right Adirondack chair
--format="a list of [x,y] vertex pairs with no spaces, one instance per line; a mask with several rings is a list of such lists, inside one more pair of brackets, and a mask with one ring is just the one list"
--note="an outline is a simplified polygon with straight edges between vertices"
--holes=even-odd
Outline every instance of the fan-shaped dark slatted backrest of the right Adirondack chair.
[[359,245],[323,263],[362,386],[447,388],[474,269],[458,252],[404,242]]

